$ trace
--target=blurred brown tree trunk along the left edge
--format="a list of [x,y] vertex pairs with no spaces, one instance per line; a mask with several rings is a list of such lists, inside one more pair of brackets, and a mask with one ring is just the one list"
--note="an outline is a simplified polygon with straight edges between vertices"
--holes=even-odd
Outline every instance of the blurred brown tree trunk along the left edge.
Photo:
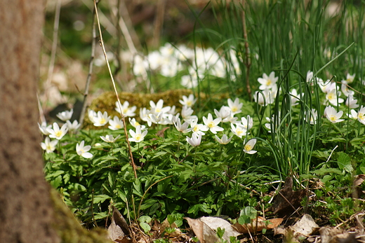
[[43,23],[44,0],[0,1],[0,242],[60,242],[36,125]]

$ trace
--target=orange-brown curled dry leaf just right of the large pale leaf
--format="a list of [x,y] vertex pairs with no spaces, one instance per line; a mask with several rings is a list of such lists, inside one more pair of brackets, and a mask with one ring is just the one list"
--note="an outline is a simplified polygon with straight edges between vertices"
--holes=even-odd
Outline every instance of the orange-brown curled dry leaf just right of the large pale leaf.
[[[267,221],[270,221],[270,223],[267,224]],[[246,234],[248,232],[260,232],[263,231],[263,229],[272,230],[273,228],[278,227],[282,221],[283,218],[265,219],[264,217],[258,216],[257,221],[256,218],[254,218],[252,223],[246,225],[234,223],[234,227],[237,228],[237,231],[241,234]]]

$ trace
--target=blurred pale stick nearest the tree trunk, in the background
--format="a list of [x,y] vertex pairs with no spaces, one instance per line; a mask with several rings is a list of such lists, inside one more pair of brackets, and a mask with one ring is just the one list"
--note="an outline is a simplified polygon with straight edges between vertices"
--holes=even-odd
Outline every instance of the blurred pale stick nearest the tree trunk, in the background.
[[55,4],[55,22],[53,23],[53,36],[52,36],[52,48],[51,48],[51,59],[49,60],[48,74],[45,86],[45,100],[48,100],[47,90],[51,87],[51,81],[53,76],[53,69],[55,67],[55,53],[57,50],[58,43],[58,27],[60,25],[60,11],[61,11],[61,0],[58,0]]

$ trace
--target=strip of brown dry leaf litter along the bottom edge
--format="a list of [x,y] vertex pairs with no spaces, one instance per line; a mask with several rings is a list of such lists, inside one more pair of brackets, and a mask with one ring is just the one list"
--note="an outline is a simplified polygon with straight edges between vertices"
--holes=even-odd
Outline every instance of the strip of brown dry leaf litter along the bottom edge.
[[[354,178],[353,188],[365,180],[364,175]],[[286,178],[284,186],[279,190],[269,209],[272,215],[281,218],[266,219],[263,216],[251,218],[250,223],[238,223],[238,220],[227,221],[217,216],[203,216],[200,218],[185,217],[190,228],[178,228],[175,223],[169,223],[167,218],[163,222],[151,221],[150,232],[144,232],[138,223],[128,225],[118,209],[113,207],[112,223],[108,228],[109,237],[119,243],[147,243],[157,239],[164,242],[321,242],[321,243],[354,243],[365,242],[364,215],[360,211],[352,215],[348,221],[354,221],[357,226],[343,229],[341,225],[328,226],[329,222],[318,222],[310,214],[303,214],[300,202],[308,194],[306,189],[293,190],[293,180]],[[271,215],[271,214],[270,214]],[[319,226],[320,223],[322,225]],[[222,233],[220,237],[218,235]]]

